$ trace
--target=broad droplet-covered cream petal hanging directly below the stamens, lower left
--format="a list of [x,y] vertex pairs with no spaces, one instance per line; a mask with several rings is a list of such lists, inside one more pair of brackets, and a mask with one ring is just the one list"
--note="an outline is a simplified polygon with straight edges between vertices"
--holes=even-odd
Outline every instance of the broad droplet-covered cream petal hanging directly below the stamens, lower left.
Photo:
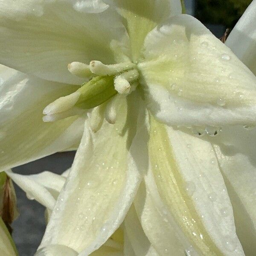
[[40,248],[62,244],[85,256],[98,249],[122,223],[140,184],[136,163],[128,153],[136,120],[131,121],[134,128],[123,126],[128,120],[124,103],[125,99],[115,125],[105,121],[96,133],[85,125]]

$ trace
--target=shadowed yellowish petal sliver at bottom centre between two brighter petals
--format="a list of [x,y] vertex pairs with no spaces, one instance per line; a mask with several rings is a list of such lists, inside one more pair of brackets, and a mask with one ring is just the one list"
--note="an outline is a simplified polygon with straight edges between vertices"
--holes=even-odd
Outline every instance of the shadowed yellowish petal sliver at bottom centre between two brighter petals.
[[[158,256],[141,227],[134,205],[131,206],[124,221],[126,239],[131,243],[135,256]],[[130,255],[125,255],[130,256]]]

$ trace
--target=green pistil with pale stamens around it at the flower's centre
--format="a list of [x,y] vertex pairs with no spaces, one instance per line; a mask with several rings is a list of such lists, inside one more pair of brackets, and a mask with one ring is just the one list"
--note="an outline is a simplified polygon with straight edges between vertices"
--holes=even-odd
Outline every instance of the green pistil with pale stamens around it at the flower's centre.
[[[73,75],[84,77],[89,81],[76,92],[60,97],[44,108],[44,122],[84,115],[89,109],[105,103],[105,108],[113,113],[115,101],[112,98],[129,95],[136,89],[139,78],[137,65],[129,61],[111,65],[105,65],[101,61],[91,61],[89,65],[72,62],[68,65],[68,70]],[[108,105],[111,105],[111,108]],[[113,114],[107,113],[105,116],[112,116],[107,120],[111,123],[115,122]]]

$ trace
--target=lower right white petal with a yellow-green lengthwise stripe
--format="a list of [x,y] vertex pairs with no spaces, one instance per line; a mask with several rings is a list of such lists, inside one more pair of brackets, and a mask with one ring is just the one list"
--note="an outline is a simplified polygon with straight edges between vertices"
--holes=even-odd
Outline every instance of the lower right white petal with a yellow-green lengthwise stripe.
[[157,189],[195,250],[244,255],[211,144],[154,119],[150,126],[149,156]]

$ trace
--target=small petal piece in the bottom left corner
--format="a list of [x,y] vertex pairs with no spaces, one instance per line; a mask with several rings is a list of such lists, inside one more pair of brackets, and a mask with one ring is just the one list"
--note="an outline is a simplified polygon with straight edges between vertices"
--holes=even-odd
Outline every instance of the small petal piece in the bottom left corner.
[[0,217],[0,254],[4,256],[17,256],[18,252],[12,237]]

